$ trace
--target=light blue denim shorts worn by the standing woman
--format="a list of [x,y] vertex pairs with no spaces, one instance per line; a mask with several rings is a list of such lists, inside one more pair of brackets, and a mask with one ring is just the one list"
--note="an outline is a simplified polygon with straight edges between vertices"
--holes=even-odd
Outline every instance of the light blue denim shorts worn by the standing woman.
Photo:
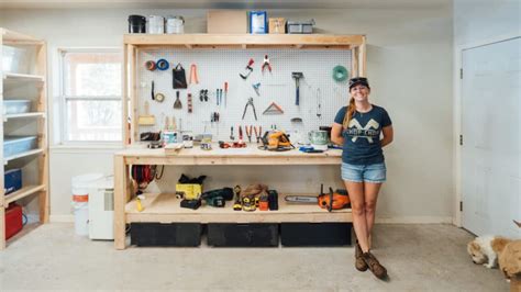
[[386,181],[386,164],[374,165],[350,165],[342,162],[342,179],[353,182],[374,182]]

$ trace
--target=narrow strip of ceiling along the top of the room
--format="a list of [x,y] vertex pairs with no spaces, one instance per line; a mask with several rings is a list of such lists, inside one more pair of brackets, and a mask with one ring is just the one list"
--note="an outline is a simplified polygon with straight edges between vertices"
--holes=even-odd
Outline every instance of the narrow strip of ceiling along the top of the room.
[[2,9],[435,9],[452,0],[0,0]]

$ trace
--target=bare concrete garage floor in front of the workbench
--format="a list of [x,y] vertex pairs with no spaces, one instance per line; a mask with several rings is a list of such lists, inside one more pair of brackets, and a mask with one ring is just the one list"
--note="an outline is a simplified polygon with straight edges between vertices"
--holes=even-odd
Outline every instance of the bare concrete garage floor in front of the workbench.
[[473,236],[450,225],[377,225],[374,254],[390,280],[353,266],[352,247],[137,248],[90,242],[54,223],[0,251],[0,291],[508,291],[498,269],[474,265]]

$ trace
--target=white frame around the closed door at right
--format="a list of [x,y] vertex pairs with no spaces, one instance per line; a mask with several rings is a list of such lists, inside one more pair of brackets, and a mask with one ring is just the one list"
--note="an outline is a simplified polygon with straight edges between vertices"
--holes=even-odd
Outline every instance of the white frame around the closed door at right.
[[[462,211],[459,211],[459,202],[462,202],[462,147],[459,146],[459,135],[462,134],[462,103],[463,103],[463,87],[462,79],[459,78],[459,70],[463,69],[463,50],[476,48],[480,46],[491,45],[495,43],[507,42],[517,37],[521,37],[519,33],[503,34],[495,37],[470,42],[467,44],[455,46],[454,49],[454,101],[453,101],[453,224],[457,227],[462,227]],[[465,74],[465,72],[464,72]]]

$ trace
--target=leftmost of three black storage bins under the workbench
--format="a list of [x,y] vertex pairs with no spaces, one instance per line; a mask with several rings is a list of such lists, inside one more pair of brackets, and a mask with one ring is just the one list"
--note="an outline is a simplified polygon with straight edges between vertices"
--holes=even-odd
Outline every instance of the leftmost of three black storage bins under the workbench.
[[200,223],[131,223],[131,244],[136,246],[199,246]]

